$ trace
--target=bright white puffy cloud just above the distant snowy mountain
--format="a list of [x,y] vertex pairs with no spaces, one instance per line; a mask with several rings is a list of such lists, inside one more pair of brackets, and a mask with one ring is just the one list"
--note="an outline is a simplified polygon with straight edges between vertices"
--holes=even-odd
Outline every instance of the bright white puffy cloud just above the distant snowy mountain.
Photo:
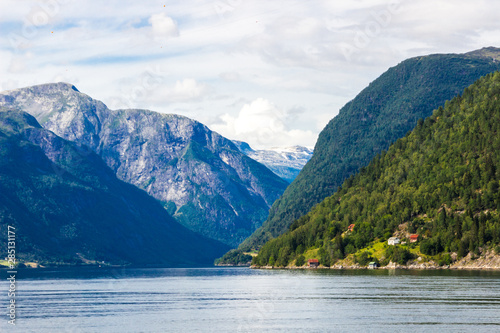
[[293,145],[314,145],[316,135],[311,131],[290,129],[288,118],[296,116],[297,109],[280,110],[264,98],[245,104],[236,117],[223,114],[210,128],[230,139],[241,140],[260,149]]

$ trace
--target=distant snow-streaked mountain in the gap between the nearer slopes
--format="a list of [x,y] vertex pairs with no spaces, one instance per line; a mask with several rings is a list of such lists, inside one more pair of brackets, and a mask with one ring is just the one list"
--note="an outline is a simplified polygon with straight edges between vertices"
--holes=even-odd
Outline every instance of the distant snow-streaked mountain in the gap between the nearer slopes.
[[313,153],[312,149],[301,146],[254,150],[246,142],[233,140],[233,143],[241,152],[264,164],[289,183],[297,177]]

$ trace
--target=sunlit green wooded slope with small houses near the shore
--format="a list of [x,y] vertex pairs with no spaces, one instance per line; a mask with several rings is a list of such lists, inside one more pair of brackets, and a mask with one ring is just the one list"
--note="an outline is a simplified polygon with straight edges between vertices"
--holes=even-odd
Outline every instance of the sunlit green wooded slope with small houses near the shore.
[[[416,256],[450,264],[469,252],[500,254],[499,97],[500,72],[478,80],[266,243],[254,263],[315,257],[330,266],[356,253],[384,264]],[[417,245],[388,246],[376,256],[377,244],[410,234]],[[370,245],[373,252],[364,251]]]

